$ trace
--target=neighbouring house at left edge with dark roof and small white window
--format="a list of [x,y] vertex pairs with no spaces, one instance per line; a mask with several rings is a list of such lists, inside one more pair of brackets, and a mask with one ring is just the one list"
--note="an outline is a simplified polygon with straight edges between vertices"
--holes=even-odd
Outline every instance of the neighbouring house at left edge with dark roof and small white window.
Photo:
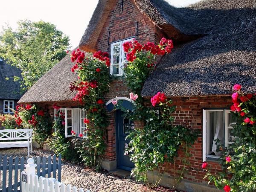
[[14,76],[21,77],[20,73],[18,68],[6,64],[0,58],[0,113],[12,114],[12,109],[16,107],[17,101],[21,98],[20,83],[13,81]]

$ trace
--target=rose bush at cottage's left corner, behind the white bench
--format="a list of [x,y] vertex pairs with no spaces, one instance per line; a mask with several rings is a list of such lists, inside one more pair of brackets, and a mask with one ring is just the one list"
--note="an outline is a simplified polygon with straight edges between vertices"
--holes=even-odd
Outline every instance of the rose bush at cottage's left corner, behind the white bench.
[[[50,124],[50,116],[48,113],[45,113],[43,116],[38,115],[38,111],[42,111],[42,109],[33,104],[31,109],[26,110],[23,107],[19,108],[18,116],[22,119],[21,125],[24,128],[33,129],[33,140],[35,140],[40,148],[43,148],[44,142],[50,135],[52,126]],[[35,116],[36,124],[33,125],[29,123],[32,120],[32,116]]]

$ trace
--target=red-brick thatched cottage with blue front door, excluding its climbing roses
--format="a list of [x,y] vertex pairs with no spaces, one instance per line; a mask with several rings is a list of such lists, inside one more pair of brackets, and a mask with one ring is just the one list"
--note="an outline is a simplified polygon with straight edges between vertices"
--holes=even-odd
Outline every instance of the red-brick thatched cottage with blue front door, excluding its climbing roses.
[[[177,105],[176,125],[199,129],[201,135],[192,146],[190,167],[180,188],[194,191],[215,191],[207,188],[201,163],[208,161],[214,173],[221,172],[213,140],[221,138],[228,147],[235,138],[230,135],[235,119],[230,116],[233,84],[243,85],[244,91],[256,92],[256,4],[242,0],[204,0],[189,7],[175,8],[164,0],[99,0],[96,10],[79,44],[86,52],[107,51],[111,55],[110,73],[122,76],[124,54],[122,43],[136,38],[144,44],[158,43],[160,38],[172,38],[173,52],[163,56],[142,91],[145,102],[158,91],[166,93]],[[52,118],[53,103],[63,107],[73,123],[66,123],[66,136],[71,130],[82,130],[81,119],[86,115],[79,103],[72,101],[69,83],[76,80],[70,71],[73,64],[67,55],[45,74],[19,103],[38,103]],[[105,101],[110,125],[105,169],[131,170],[133,163],[124,155],[125,128],[139,123],[122,119],[113,111],[111,99],[123,100],[131,107],[129,90],[122,79],[111,82]],[[67,119],[68,120],[68,119]],[[171,168],[170,168],[171,169]],[[161,183],[172,186],[172,175]],[[191,183],[193,182],[193,183]]]

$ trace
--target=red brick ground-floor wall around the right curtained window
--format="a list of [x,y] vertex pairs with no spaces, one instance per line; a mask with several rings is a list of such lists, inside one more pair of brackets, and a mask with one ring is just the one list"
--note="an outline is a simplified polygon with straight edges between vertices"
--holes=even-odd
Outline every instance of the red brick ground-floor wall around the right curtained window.
[[[173,113],[175,117],[175,125],[184,125],[192,129],[198,129],[201,134],[198,140],[192,145],[189,153],[192,157],[189,157],[189,168],[186,170],[184,179],[190,180],[197,183],[205,183],[208,181],[204,180],[206,174],[204,169],[201,169],[202,165],[202,117],[204,108],[230,108],[232,99],[230,96],[193,96],[193,97],[175,97],[171,98],[173,105],[176,105],[176,111]],[[145,102],[148,105],[148,102]],[[177,158],[177,169],[181,170],[183,163],[181,163],[181,157],[184,157],[182,150],[178,151]],[[211,172],[216,174],[221,172],[221,166],[218,162],[207,160],[211,167]],[[166,163],[169,175],[173,175],[174,166],[171,163]]]

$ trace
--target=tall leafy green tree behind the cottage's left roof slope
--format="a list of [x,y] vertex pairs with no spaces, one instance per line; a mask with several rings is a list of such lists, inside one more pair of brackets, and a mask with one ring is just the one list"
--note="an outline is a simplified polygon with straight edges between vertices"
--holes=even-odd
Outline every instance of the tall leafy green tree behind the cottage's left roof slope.
[[20,20],[18,28],[13,31],[10,26],[3,27],[0,33],[0,57],[21,70],[20,81],[26,91],[47,71],[66,55],[69,37],[56,29],[56,26],[44,22]]

